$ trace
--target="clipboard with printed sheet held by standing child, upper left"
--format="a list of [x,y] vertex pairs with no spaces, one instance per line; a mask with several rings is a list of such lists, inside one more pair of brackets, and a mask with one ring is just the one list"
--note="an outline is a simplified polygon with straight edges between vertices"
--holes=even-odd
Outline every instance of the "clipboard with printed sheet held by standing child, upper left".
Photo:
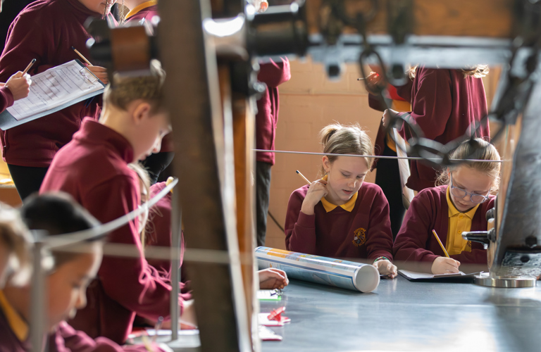
[[69,61],[32,76],[30,94],[0,114],[0,128],[11,127],[60,111],[104,92],[105,84],[79,60]]

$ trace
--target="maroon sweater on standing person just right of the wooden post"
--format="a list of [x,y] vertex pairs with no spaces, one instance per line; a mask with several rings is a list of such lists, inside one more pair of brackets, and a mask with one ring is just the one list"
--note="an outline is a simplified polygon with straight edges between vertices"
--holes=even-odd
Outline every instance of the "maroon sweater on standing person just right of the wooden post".
[[[256,148],[274,150],[276,127],[278,125],[278,86],[291,79],[290,61],[280,58],[281,63],[262,63],[257,80],[267,84],[267,90],[257,101]],[[256,160],[274,165],[274,153],[257,152]]]

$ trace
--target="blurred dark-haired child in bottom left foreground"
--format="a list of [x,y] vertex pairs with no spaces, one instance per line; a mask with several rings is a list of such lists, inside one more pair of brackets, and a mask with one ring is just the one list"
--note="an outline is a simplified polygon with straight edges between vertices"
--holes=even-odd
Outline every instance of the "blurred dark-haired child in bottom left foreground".
[[[32,230],[46,230],[49,236],[65,234],[99,225],[85,209],[66,194],[46,194],[28,199],[21,210],[23,219]],[[10,226],[11,223],[4,224]],[[18,231],[16,227],[12,229]],[[91,351],[147,351],[143,346],[122,348],[109,339],[91,339],[78,332],[64,320],[86,304],[85,291],[99,268],[103,241],[89,240],[54,249],[51,255],[54,267],[46,276],[46,325],[48,339],[44,339],[51,352]],[[34,351],[30,345],[30,284],[15,287],[8,284],[0,290],[0,351]],[[154,350],[162,351],[154,346]],[[153,351],[154,351],[153,350]]]

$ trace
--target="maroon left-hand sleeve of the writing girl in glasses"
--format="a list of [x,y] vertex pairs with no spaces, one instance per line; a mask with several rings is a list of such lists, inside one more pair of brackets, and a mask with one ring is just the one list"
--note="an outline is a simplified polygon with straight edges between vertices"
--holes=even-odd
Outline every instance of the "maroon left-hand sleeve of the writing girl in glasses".
[[430,222],[433,210],[425,192],[420,192],[413,198],[406,211],[404,222],[394,239],[394,260],[423,261],[432,263],[438,256],[425,249],[432,229]]

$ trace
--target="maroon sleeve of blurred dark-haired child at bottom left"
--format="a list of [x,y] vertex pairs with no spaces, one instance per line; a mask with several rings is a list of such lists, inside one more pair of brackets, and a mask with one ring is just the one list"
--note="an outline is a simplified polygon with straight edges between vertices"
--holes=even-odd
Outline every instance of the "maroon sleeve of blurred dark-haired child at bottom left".
[[[119,346],[110,339],[98,337],[92,339],[87,334],[73,329],[67,322],[61,322],[56,332],[49,337],[51,352],[145,352],[142,345]],[[156,351],[163,351],[156,347]]]

